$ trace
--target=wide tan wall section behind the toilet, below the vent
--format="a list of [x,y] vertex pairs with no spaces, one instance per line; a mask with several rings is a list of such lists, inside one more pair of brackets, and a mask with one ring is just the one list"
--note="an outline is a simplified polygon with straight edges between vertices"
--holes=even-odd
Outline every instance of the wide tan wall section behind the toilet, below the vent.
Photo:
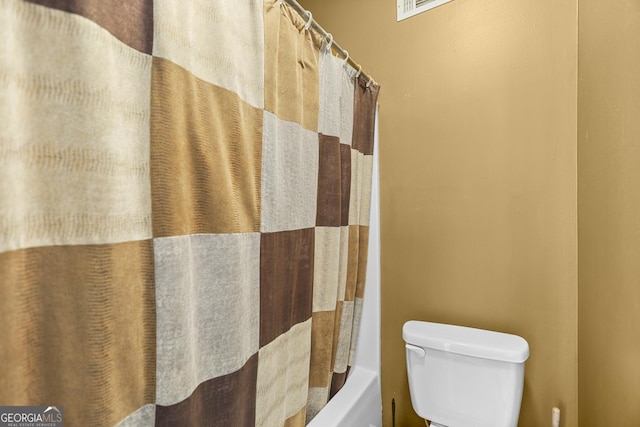
[[578,425],[577,0],[302,0],[382,85],[383,418],[424,426],[403,323],[519,334],[520,426]]

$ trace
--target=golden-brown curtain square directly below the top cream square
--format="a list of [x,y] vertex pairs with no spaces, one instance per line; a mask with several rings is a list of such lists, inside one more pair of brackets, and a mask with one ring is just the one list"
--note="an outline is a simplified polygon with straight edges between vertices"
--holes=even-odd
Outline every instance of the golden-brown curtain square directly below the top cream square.
[[262,111],[153,58],[154,237],[260,230]]

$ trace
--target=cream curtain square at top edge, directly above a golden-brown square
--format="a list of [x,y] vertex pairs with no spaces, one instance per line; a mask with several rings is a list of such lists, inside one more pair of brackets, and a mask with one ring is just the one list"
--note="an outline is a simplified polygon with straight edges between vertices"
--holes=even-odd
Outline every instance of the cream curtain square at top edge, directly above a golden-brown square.
[[263,108],[263,25],[259,1],[154,0],[153,56]]

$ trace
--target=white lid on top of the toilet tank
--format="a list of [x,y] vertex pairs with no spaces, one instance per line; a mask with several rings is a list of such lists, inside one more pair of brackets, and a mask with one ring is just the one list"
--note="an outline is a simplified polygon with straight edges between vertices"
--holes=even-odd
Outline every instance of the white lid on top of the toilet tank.
[[503,362],[522,363],[529,344],[517,335],[465,326],[410,320],[402,327],[408,344]]

